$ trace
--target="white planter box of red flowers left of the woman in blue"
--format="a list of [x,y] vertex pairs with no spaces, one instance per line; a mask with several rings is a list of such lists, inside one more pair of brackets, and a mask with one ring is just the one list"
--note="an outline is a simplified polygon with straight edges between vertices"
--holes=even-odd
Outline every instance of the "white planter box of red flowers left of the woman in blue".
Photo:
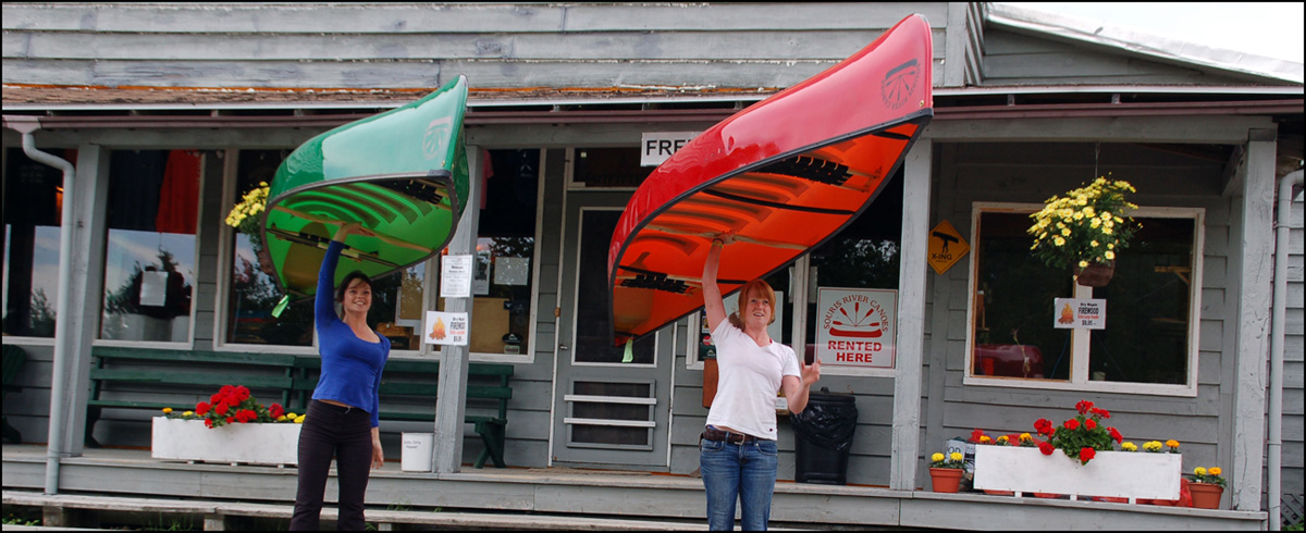
[[151,427],[150,457],[294,465],[298,462],[303,415],[286,413],[278,404],[259,404],[243,385],[223,385],[195,410],[176,414],[165,409]]

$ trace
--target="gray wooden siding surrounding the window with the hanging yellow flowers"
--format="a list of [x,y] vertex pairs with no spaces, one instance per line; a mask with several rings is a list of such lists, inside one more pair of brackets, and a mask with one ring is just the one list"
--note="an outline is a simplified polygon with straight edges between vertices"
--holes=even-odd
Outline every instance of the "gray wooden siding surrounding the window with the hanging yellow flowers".
[[[1111,171],[1115,179],[1130,180],[1139,189],[1131,200],[1139,205],[1202,206],[1207,210],[1198,396],[963,385],[965,340],[969,334],[966,264],[972,260],[966,257],[965,264],[955,265],[944,276],[931,276],[936,283],[931,293],[935,312],[939,312],[938,302],[946,300],[948,306],[944,311],[947,316],[932,320],[936,327],[946,324],[947,331],[942,333],[947,338],[943,346],[931,345],[936,358],[943,358],[944,368],[931,368],[939,371],[930,372],[927,378],[927,389],[940,391],[942,396],[929,397],[925,451],[940,448],[948,438],[966,436],[973,428],[982,428],[990,435],[1032,432],[1034,419],[1070,418],[1075,413],[1075,402],[1087,398],[1111,412],[1111,425],[1127,440],[1179,440],[1186,472],[1199,465],[1230,465],[1232,451],[1221,449],[1220,443],[1228,442],[1221,435],[1228,431],[1233,379],[1226,375],[1232,367],[1221,351],[1234,311],[1221,298],[1226,282],[1221,265],[1239,247],[1229,243],[1230,199],[1220,192],[1222,165],[1140,150],[1145,149],[1104,145],[1100,172]],[[1079,187],[1094,174],[1092,144],[981,142],[956,144],[943,152],[942,161],[947,166],[939,171],[935,199],[944,210],[938,212],[935,219],[949,221],[968,240],[972,240],[973,202],[1042,204],[1049,191]],[[922,461],[918,478],[929,478],[925,468]]]

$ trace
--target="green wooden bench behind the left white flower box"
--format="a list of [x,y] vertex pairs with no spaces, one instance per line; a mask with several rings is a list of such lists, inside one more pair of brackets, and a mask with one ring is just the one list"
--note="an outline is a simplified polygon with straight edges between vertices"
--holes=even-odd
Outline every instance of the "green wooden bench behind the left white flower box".
[[[195,409],[193,401],[150,401],[136,398],[103,398],[106,388],[123,385],[157,385],[188,388],[208,397],[222,385],[244,385],[251,391],[272,391],[277,396],[253,397],[264,405],[279,401],[287,405],[294,385],[295,355],[251,354],[243,351],[150,350],[140,347],[95,346],[91,349],[90,400],[86,409],[88,447],[98,448],[93,436],[95,422],[104,408],[174,410]],[[161,367],[159,363],[182,363]],[[278,371],[279,370],[279,371]],[[178,391],[182,392],[182,391]]]

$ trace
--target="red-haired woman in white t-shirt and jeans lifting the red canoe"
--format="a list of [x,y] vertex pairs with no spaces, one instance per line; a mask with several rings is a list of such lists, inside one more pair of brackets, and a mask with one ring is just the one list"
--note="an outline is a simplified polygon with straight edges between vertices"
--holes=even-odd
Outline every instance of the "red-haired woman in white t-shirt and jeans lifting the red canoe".
[[781,388],[789,410],[802,412],[820,379],[820,361],[811,366],[767,334],[776,321],[776,293],[763,280],[739,290],[739,312],[726,316],[717,269],[721,250],[734,242],[726,233],[712,239],[703,264],[703,310],[717,346],[717,396],[708,427],[699,439],[699,468],[708,496],[708,526],[733,530],[741,502],[744,530],[765,530],[776,490],[776,396]]

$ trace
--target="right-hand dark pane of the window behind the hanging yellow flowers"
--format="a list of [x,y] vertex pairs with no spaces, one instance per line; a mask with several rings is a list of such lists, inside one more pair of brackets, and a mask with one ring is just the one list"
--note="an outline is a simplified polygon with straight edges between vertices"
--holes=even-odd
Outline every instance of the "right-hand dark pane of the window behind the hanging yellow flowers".
[[1111,282],[1093,290],[1093,298],[1106,299],[1106,329],[1091,336],[1091,379],[1183,384],[1196,222],[1135,219],[1143,229],[1117,255]]

